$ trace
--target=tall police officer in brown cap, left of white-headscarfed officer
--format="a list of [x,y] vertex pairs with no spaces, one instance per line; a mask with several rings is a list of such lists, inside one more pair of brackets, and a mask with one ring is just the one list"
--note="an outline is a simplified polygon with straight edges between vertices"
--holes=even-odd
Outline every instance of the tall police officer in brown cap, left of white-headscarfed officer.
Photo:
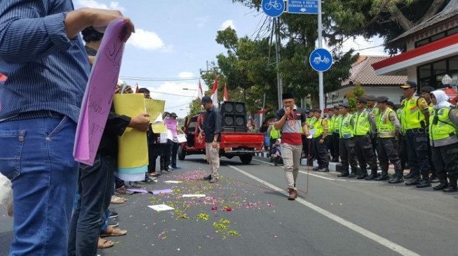
[[[423,97],[414,96],[417,83],[407,81],[400,86],[404,90],[403,113],[401,122],[405,127],[405,142],[412,179],[405,185],[419,187],[431,186],[429,181],[428,134],[429,125],[428,104]],[[422,177],[420,177],[420,174]]]

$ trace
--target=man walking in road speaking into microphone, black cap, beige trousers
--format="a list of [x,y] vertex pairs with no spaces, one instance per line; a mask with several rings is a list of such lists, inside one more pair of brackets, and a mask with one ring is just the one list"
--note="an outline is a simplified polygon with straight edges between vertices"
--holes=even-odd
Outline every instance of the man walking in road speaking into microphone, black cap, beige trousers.
[[305,111],[295,105],[291,92],[282,94],[283,108],[275,115],[275,129],[281,130],[281,157],[288,184],[288,200],[297,199],[296,180],[302,154],[301,127],[309,136],[309,128],[305,123]]

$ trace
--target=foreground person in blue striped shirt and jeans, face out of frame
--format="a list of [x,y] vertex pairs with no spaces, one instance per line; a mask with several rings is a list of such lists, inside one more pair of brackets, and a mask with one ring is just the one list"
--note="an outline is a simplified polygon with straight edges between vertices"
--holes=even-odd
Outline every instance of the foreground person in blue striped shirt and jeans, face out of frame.
[[[10,255],[67,254],[79,172],[72,152],[90,71],[79,32],[119,17],[117,10],[73,10],[70,0],[0,3],[0,72],[8,76],[0,134],[14,135],[0,136],[0,159],[15,158],[0,161],[15,190]],[[123,19],[127,40],[134,28]],[[20,158],[13,148],[22,149]]]

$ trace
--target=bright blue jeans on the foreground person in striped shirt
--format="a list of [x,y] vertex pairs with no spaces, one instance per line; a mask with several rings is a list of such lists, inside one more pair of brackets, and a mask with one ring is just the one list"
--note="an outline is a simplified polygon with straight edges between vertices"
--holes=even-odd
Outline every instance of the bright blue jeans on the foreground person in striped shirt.
[[65,255],[79,164],[76,124],[55,116],[0,122],[0,170],[13,185],[10,255]]

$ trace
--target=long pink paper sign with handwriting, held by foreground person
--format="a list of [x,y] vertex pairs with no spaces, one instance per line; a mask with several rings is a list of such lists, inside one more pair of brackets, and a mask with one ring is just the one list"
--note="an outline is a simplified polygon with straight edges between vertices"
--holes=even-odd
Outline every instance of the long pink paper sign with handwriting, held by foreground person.
[[121,40],[124,28],[120,18],[105,30],[81,104],[73,156],[75,161],[90,166],[94,163],[118,82],[125,45]]

